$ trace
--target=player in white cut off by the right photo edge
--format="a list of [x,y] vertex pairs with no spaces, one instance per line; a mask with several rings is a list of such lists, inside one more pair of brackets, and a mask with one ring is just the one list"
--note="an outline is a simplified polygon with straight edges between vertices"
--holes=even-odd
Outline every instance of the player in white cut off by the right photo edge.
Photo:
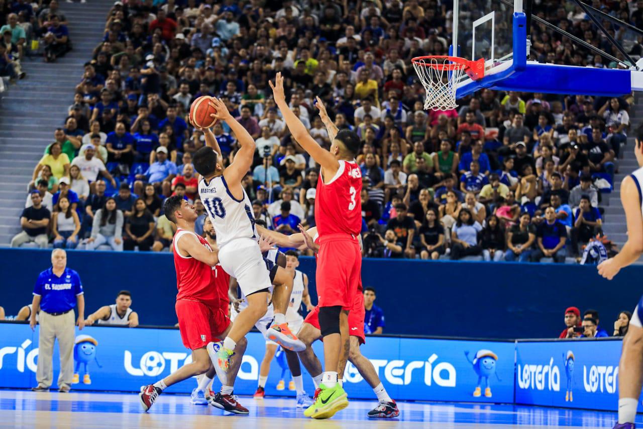
[[[643,254],[643,127],[638,129],[634,154],[639,168],[620,184],[620,202],[628,224],[628,241],[620,253],[597,269],[611,280],[620,269],[638,260]],[[615,429],[633,429],[637,415],[638,396],[643,384],[643,297],[638,301],[623,339],[619,362],[619,420]]]

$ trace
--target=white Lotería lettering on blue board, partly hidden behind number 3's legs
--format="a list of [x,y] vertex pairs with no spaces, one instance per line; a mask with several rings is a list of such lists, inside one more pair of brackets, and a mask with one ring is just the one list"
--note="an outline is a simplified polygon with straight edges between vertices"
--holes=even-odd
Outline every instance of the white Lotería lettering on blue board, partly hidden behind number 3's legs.
[[[398,359],[392,361],[370,359],[370,361],[375,367],[378,376],[381,376],[379,373],[380,368],[384,368],[384,377],[386,381],[392,385],[409,385],[412,383],[413,376],[415,375],[416,381],[417,377],[423,377],[424,384],[427,386],[455,387],[455,367],[448,362],[439,362],[433,365],[437,359],[438,355],[434,353],[431,354],[426,361],[410,361],[409,363]],[[352,363],[347,363],[344,372],[344,381],[359,383],[362,380],[363,377],[359,374],[357,368],[355,368]]]

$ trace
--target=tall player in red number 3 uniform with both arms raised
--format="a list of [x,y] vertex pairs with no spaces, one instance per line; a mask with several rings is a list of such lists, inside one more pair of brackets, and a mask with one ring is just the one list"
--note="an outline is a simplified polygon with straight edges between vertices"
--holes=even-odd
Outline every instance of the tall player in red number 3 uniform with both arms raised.
[[275,84],[269,84],[294,140],[321,166],[315,198],[315,220],[321,246],[316,280],[325,372],[320,394],[304,415],[324,419],[349,404],[346,392],[337,383],[337,374],[338,363],[349,351],[348,314],[361,276],[358,236],[362,222],[359,198],[362,182],[361,170],[355,161],[359,137],[352,131],[338,131],[317,97],[320,117],[330,130],[332,142],[330,151],[322,148],[288,107],[281,73],[276,74]]

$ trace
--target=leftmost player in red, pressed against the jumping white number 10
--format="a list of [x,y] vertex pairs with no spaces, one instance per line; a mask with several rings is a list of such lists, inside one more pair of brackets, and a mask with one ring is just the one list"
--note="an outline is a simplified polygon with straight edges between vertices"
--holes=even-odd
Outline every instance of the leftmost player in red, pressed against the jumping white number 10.
[[246,350],[246,339],[242,338],[237,343],[237,356],[231,360],[227,375],[224,372],[218,374],[218,366],[212,365],[212,358],[216,356],[217,348],[221,347],[221,343],[215,345],[213,341],[225,337],[231,327],[228,308],[224,306],[227,288],[217,284],[229,283],[230,276],[216,267],[219,263],[218,252],[212,251],[208,242],[194,232],[197,218],[194,205],[181,196],[171,196],[163,204],[163,213],[178,227],[172,249],[179,291],[176,296],[176,315],[183,345],[192,350],[192,363],[153,385],[143,386],[139,394],[143,410],[149,410],[168,386],[214,368],[223,386],[221,394],[215,398],[217,401],[213,399],[211,404],[235,414],[248,414],[248,410],[237,402],[231,386]]

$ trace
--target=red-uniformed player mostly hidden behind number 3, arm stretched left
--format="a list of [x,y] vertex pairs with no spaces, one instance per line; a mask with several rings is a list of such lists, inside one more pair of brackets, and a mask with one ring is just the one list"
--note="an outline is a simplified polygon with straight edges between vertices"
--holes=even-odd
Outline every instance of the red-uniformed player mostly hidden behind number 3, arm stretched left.
[[[272,240],[275,245],[281,247],[296,247],[300,250],[311,249],[315,256],[320,249],[319,246],[319,235],[317,234],[317,227],[312,227],[305,231],[300,225],[300,233],[292,234],[286,236],[276,231],[268,231],[267,229],[260,228],[258,232],[262,236],[267,236]],[[309,312],[303,321],[302,328],[297,332],[297,338],[299,338],[305,345],[306,348],[303,352],[298,352],[299,360],[302,361],[303,366],[306,367],[309,374],[311,374],[312,381],[317,387],[321,383],[321,362],[318,357],[315,355],[314,350],[312,350],[312,343],[316,340],[321,339],[321,330],[319,325],[319,310],[320,307],[317,306]],[[386,392],[386,389],[382,385],[377,371],[371,361],[369,361],[359,350],[359,346],[366,343],[366,338],[364,335],[364,295],[362,291],[361,282],[358,285],[358,290],[353,298],[353,305],[349,312],[349,335],[350,335],[350,349],[348,360],[352,363],[359,371],[359,374],[367,381],[368,385],[371,386],[373,392],[377,396],[377,406],[368,412],[368,417],[372,418],[393,418],[399,416],[399,409],[397,408],[397,403]],[[288,366],[291,371],[301,372],[298,359],[292,359],[289,354],[286,354],[288,360]],[[344,369],[346,368],[346,359],[341,359],[338,365],[338,374],[343,374]],[[343,385],[341,380],[338,380],[340,385]]]

